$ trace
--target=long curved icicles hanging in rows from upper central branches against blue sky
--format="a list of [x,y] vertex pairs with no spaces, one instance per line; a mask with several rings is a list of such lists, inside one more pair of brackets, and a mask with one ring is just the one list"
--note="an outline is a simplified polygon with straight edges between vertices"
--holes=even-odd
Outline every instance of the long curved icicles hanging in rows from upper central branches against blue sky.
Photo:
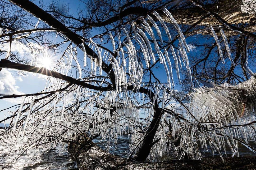
[[[174,47],[171,44],[168,46],[168,48],[164,48],[163,51],[161,51],[161,49],[159,48],[159,45],[157,43],[158,40],[156,39],[156,35],[155,35],[154,31],[152,30],[149,23],[151,23],[153,25],[153,27],[155,28],[157,36],[160,41],[160,44],[163,45],[164,43],[163,43],[161,31],[160,31],[158,25],[156,24],[156,22],[153,20],[153,18],[150,15],[147,15],[146,19],[144,19],[143,17],[140,17],[137,19],[137,20],[140,20],[140,22],[141,22],[137,26],[135,25],[136,21],[132,22],[133,34],[131,36],[128,34],[126,28],[123,25],[121,26],[121,28],[115,29],[114,36],[112,35],[111,31],[108,32],[107,35],[109,36],[111,43],[112,43],[113,54],[117,55],[116,58],[113,57],[113,55],[111,53],[109,53],[108,51],[106,51],[104,49],[102,51],[102,48],[98,47],[97,43],[94,42],[90,38],[87,45],[92,50],[95,51],[95,54],[98,55],[98,60],[99,60],[99,61],[97,61],[97,58],[95,58],[94,56],[89,56],[89,58],[91,60],[91,70],[93,70],[92,69],[93,68],[92,61],[94,60],[94,63],[98,63],[99,74],[101,75],[102,74],[102,68],[101,68],[102,62],[105,62],[105,63],[110,62],[113,66],[113,71],[114,71],[115,77],[117,77],[115,84],[116,84],[116,90],[118,90],[118,91],[121,91],[121,83],[125,84],[125,83],[129,83],[129,82],[141,82],[141,79],[143,76],[142,75],[143,65],[141,62],[138,62],[137,50],[135,49],[135,43],[137,43],[140,46],[140,49],[143,53],[145,65],[147,68],[150,67],[150,63],[152,63],[152,64],[156,63],[157,59],[156,59],[155,55],[156,54],[158,55],[159,62],[161,64],[163,64],[164,69],[166,71],[167,84],[170,89],[172,88],[172,86],[174,86],[174,80],[173,80],[173,73],[172,73],[172,62],[171,62],[171,58],[168,54],[168,49],[170,49],[171,54],[173,56],[179,83],[181,84],[179,70],[181,70],[182,74],[183,74],[183,70],[182,70],[182,62],[183,62],[183,64],[187,68],[187,73],[190,77],[191,85],[193,86],[191,71],[190,71],[190,67],[189,67],[189,60],[188,60],[188,56],[186,53],[186,51],[189,52],[189,47],[186,43],[185,37],[184,37],[178,23],[173,18],[173,16],[170,14],[170,12],[166,8],[163,8],[162,10],[168,16],[170,21],[175,26],[177,32],[179,33],[179,37],[180,37],[179,45],[178,45],[178,50],[176,52],[175,52]],[[168,41],[171,42],[172,37],[170,35],[170,32],[169,32],[164,20],[161,18],[161,16],[156,11],[154,11],[152,14],[159,20],[161,25],[164,27],[165,33],[168,36]],[[122,32],[125,35],[125,42],[121,41],[120,34]],[[102,38],[103,35],[100,35],[100,36]],[[114,37],[117,38],[117,41],[115,41]],[[152,44],[150,43],[149,37],[152,38],[152,40],[153,40],[154,48],[152,48]],[[118,46],[117,48],[116,48],[116,42],[117,42],[117,46]],[[86,54],[84,44],[85,43],[82,43],[81,47],[84,51],[84,67],[85,67],[88,56]],[[153,49],[155,49],[156,52]],[[96,69],[95,67],[96,66],[94,66],[94,69]],[[129,80],[126,80],[127,79],[126,75],[125,75],[126,71],[130,75]]]

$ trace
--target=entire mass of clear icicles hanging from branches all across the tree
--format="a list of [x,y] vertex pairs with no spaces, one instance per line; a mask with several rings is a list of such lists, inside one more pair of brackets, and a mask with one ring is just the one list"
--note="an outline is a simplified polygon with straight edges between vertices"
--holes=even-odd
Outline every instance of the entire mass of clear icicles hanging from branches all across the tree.
[[[79,134],[80,132],[86,132],[91,137],[100,134],[101,140],[106,142],[106,150],[113,146],[111,143],[116,143],[119,135],[129,134],[131,137],[130,154],[136,153],[136,150],[138,150],[142,143],[141,141],[144,138],[144,134],[142,132],[146,131],[148,124],[150,124],[150,120],[152,120],[154,107],[154,104],[149,98],[149,94],[140,93],[138,88],[143,86],[148,90],[153,91],[153,100],[158,100],[162,109],[166,108],[166,101],[172,98],[172,90],[170,89],[172,86],[174,86],[171,64],[172,62],[168,54],[169,49],[173,56],[179,83],[181,83],[179,72],[181,71],[183,74],[183,62],[187,69],[187,74],[191,81],[191,86],[193,86],[189,60],[187,56],[189,47],[186,43],[185,37],[178,23],[175,21],[170,12],[166,8],[163,8],[162,10],[164,14],[168,16],[177,32],[179,33],[180,38],[176,51],[171,44],[168,46],[168,48],[164,48],[163,51],[161,51],[156,40],[156,35],[151,29],[149,23],[151,23],[155,28],[160,45],[164,44],[162,34],[157,23],[149,15],[147,15],[145,19],[138,18],[138,20],[141,21],[141,24],[137,25],[137,27],[135,22],[132,23],[133,35],[131,36],[128,34],[124,26],[115,29],[115,36],[112,35],[112,32],[108,33],[112,43],[113,53],[117,54],[117,58],[113,57],[109,51],[99,47],[97,43],[92,39],[90,39],[88,42],[82,43],[79,46],[84,52],[84,67],[87,67],[87,60],[88,58],[90,59],[91,77],[89,78],[82,78],[82,69],[78,62],[77,49],[76,47],[72,47],[70,44],[62,57],[59,59],[53,71],[68,75],[68,72],[71,69],[71,63],[74,61],[77,65],[79,79],[81,79],[81,81],[90,80],[95,85],[97,84],[98,86],[104,86],[105,78],[100,79],[95,75],[98,70],[99,75],[102,75],[103,62],[107,64],[111,63],[115,74],[116,89],[113,91],[98,92],[77,85],[69,85],[65,81],[49,77],[47,79],[45,89],[42,92],[56,92],[53,94],[45,93],[36,97],[24,96],[22,98],[19,109],[13,113],[14,115],[16,114],[16,116],[13,117],[10,123],[10,127],[1,132],[1,144],[5,145],[7,143],[7,154],[14,155],[18,152],[22,153],[24,150],[31,150],[33,148],[50,150],[57,145],[61,145],[64,149],[67,141],[74,139],[74,133]],[[171,42],[172,37],[164,20],[156,11],[154,11],[152,14],[155,16],[155,18],[157,18],[159,23],[161,23],[168,37],[168,41]],[[220,57],[222,61],[224,61],[223,55],[221,55],[222,53],[219,40],[216,38],[216,33],[212,27],[210,27],[210,29],[216,39],[220,51]],[[125,34],[126,43],[121,41],[121,32]],[[225,42],[225,47],[228,51],[229,58],[232,64],[234,64],[223,30],[221,30],[221,34]],[[114,37],[116,37],[118,41],[115,41]],[[149,37],[151,37],[153,40],[154,48],[151,46]],[[65,39],[65,37],[63,38]],[[117,48],[115,42],[117,42]],[[163,64],[167,74],[167,84],[152,84],[142,82],[143,64],[137,59],[137,50],[135,49],[134,45],[135,43],[140,46],[147,68],[150,67],[150,63],[154,64],[157,62],[153,49],[156,50],[159,62]],[[96,58],[94,56],[87,56],[85,45],[88,45],[92,50],[94,50],[98,57]],[[124,48],[127,52],[125,52]],[[31,65],[37,66],[40,53],[47,55],[48,49],[38,47],[35,47],[34,49],[35,53],[31,60]],[[9,55],[9,53],[7,54]],[[126,72],[129,73],[129,76],[126,75]],[[107,76],[108,74],[106,77]],[[100,81],[101,83],[98,83]],[[132,91],[128,91],[128,85],[133,85],[134,89],[132,89]],[[65,90],[58,91],[62,88],[65,88]],[[225,148],[223,142],[224,139],[226,140],[228,137],[230,139],[230,148],[232,151],[234,151],[234,148],[236,148],[237,154],[237,142],[233,141],[233,137],[238,138],[242,136],[249,140],[254,135],[255,140],[254,126],[246,126],[244,127],[245,129],[239,129],[240,127],[236,129],[232,128],[233,130],[230,128],[226,128],[226,130],[221,129],[223,130],[223,137],[216,135],[217,132],[215,132],[215,130],[213,130],[212,133],[200,132],[200,135],[198,135],[199,125],[206,126],[208,129],[213,129],[217,127],[217,125],[225,125],[223,122],[224,119],[222,119],[225,116],[220,116],[224,115],[224,111],[214,109],[217,106],[220,106],[220,103],[217,101],[222,97],[221,95],[222,93],[215,94],[214,92],[214,94],[212,94],[212,99],[216,99],[216,106],[213,104],[212,106],[205,106],[205,108],[202,108],[202,106],[205,104],[202,102],[200,103],[200,101],[204,99],[204,96],[198,97],[199,99],[196,99],[195,96],[193,99],[193,114],[198,113],[198,115],[194,115],[197,120],[200,122],[218,121],[218,124],[196,122],[195,117],[191,117],[190,114],[188,114],[187,117],[184,117],[184,120],[187,121],[180,122],[180,120],[176,119],[174,115],[164,113],[160,123],[161,126],[159,126],[155,136],[155,140],[158,138],[161,138],[161,140],[153,146],[149,158],[151,160],[155,160],[164,153],[174,149],[176,153],[181,151],[180,158],[182,158],[185,153],[188,153],[192,158],[199,159],[200,153],[197,151],[197,148],[194,147],[194,144],[196,144],[196,137],[200,137],[201,146],[206,147],[205,149],[207,149],[207,140],[210,141],[209,145],[212,146],[212,148],[217,148],[219,152],[221,147]],[[206,100],[210,103],[209,98]],[[230,100],[225,98],[223,101],[228,102]],[[223,107],[231,109],[232,105],[230,104],[232,103],[226,103]],[[209,117],[209,109],[211,109],[210,112],[212,117]],[[249,114],[249,112],[246,112],[245,115],[247,114]],[[146,115],[146,118],[141,118],[141,115]],[[228,116],[229,118],[232,117],[232,115]],[[169,132],[169,128],[168,125],[166,125],[165,120],[172,123],[173,128],[171,132]],[[228,122],[228,120],[226,121]],[[242,121],[248,120],[236,117],[232,119],[233,123],[235,121],[238,121],[237,123],[246,123]],[[254,131],[251,127],[254,127]],[[250,133],[243,135],[242,133],[245,133],[244,130],[248,130],[246,132]],[[174,140],[177,139],[177,134],[181,134],[179,147],[170,147],[171,144],[167,144],[167,133],[169,133]],[[245,141],[245,143],[248,142]],[[114,147],[118,146],[115,145]]]

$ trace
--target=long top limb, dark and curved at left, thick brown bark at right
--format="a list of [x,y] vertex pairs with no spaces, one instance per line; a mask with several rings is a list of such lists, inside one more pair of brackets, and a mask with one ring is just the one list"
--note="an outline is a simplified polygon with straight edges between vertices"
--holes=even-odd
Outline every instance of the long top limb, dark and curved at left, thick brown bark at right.
[[[221,18],[229,22],[230,24],[240,24],[240,23],[254,23],[256,16],[250,15],[241,11],[242,0],[220,0],[219,3],[207,4],[206,8],[217,12]],[[143,8],[141,6],[129,7],[121,11],[119,15],[115,15],[103,22],[86,22],[88,27],[102,27],[110,23],[121,20],[123,17],[128,15],[146,15],[151,10]],[[173,17],[179,24],[193,25],[197,20],[203,18],[206,13],[204,10],[197,6],[189,7],[186,9],[169,9]],[[167,17],[165,17],[162,10],[157,10],[157,12],[163,17],[166,22],[170,22]],[[151,15],[153,18],[154,15]],[[198,25],[218,25],[219,22],[214,17],[209,17],[204,19]]]

